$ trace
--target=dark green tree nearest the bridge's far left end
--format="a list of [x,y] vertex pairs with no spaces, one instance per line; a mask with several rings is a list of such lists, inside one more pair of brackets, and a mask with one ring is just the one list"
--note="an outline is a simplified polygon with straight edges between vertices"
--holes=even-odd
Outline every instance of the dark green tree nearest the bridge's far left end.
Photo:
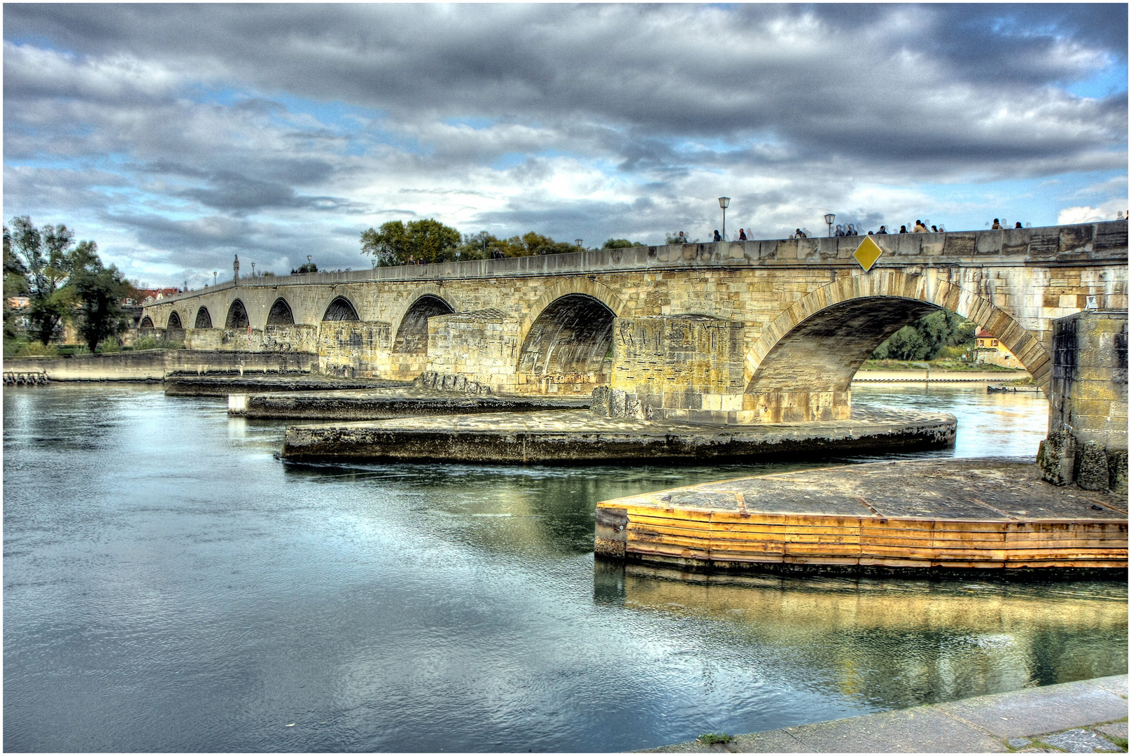
[[83,241],[70,255],[71,285],[79,301],[78,334],[92,352],[129,326],[121,302],[133,289],[115,266],[103,267],[97,250],[93,241]]

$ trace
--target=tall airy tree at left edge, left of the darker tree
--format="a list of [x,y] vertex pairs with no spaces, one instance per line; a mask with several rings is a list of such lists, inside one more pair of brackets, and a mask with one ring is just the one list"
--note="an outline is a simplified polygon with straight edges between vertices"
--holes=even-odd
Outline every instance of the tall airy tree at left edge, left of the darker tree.
[[[62,224],[36,229],[26,215],[12,218],[11,231],[5,231],[10,237],[12,265],[18,264],[24,272],[31,300],[31,330],[40,342],[48,344],[59,324],[70,316],[74,304],[74,290],[67,284],[75,234]],[[8,269],[7,263],[5,269]]]

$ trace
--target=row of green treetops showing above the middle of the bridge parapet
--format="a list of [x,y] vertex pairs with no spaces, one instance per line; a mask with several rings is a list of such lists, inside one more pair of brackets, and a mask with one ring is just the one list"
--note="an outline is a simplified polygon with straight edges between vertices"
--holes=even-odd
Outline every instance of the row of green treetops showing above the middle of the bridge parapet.
[[[620,247],[642,247],[642,244],[628,239],[610,239],[603,249]],[[576,244],[554,241],[534,231],[509,239],[500,239],[486,231],[461,234],[433,218],[407,223],[389,221],[382,223],[379,229],[368,229],[361,234],[362,255],[370,255],[375,267],[559,255],[578,250]]]

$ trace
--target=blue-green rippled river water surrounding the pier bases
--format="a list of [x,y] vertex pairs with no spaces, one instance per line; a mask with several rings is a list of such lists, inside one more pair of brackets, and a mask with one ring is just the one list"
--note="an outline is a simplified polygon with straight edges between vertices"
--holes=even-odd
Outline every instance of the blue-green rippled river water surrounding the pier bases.
[[[938,455],[1045,433],[1034,394],[855,397],[957,414]],[[1128,669],[1125,583],[594,565],[597,501],[803,463],[299,466],[223,400],[3,411],[7,750],[625,750]]]

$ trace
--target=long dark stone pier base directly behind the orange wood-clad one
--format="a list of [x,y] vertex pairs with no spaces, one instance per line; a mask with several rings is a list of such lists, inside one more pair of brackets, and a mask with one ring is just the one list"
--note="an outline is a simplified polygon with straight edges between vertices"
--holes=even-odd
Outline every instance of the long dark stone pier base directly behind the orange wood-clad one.
[[941,412],[853,409],[852,420],[694,426],[598,418],[586,410],[292,426],[284,459],[475,463],[621,463],[815,457],[906,452],[955,443]]

